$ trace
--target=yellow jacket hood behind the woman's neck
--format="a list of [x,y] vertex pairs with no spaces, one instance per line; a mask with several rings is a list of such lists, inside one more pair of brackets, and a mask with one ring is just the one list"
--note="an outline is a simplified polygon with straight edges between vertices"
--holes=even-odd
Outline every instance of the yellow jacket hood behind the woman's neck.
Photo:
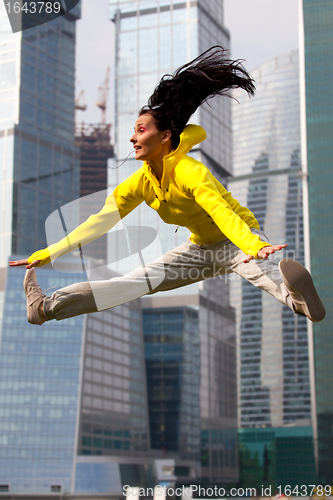
[[[205,129],[200,125],[186,125],[183,132],[180,134],[179,145],[177,149],[172,150],[163,158],[163,177],[161,184],[164,184],[165,179],[170,175],[170,172],[175,168],[181,156],[191,151],[193,146],[204,141],[207,137]],[[149,169],[148,162],[144,162],[144,169]]]

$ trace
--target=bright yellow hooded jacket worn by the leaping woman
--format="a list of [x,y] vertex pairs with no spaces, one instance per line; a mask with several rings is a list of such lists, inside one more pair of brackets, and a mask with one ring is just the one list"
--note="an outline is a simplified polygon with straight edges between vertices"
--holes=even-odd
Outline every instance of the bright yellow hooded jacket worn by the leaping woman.
[[91,215],[67,237],[32,254],[28,262],[48,264],[102,236],[145,201],[167,224],[187,227],[191,241],[205,245],[228,238],[245,254],[257,257],[267,246],[250,228],[259,229],[253,213],[242,207],[201,162],[187,156],[193,146],[206,139],[205,130],[187,125],[176,150],[163,158],[161,184],[144,162],[108,196],[102,210]]

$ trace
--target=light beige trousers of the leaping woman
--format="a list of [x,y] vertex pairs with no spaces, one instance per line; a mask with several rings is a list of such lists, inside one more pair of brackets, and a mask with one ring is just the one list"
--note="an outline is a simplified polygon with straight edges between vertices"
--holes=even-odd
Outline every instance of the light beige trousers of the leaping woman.
[[[252,229],[263,241],[265,234]],[[44,299],[46,320],[103,311],[143,295],[173,290],[214,276],[236,273],[292,309],[278,264],[267,259],[244,263],[245,254],[230,240],[195,245],[188,240],[157,260],[110,280],[75,283]]]

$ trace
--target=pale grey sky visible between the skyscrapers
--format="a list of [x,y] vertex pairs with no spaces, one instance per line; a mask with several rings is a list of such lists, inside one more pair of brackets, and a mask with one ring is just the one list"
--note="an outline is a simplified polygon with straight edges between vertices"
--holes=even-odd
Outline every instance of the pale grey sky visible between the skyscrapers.
[[[211,0],[212,2],[214,0]],[[95,106],[98,88],[111,68],[107,122],[114,110],[114,25],[108,18],[108,0],[82,0],[77,21],[76,96],[85,91],[86,111],[77,122],[101,121]],[[225,26],[231,34],[231,57],[244,59],[251,72],[269,59],[298,48],[298,0],[225,0]]]

